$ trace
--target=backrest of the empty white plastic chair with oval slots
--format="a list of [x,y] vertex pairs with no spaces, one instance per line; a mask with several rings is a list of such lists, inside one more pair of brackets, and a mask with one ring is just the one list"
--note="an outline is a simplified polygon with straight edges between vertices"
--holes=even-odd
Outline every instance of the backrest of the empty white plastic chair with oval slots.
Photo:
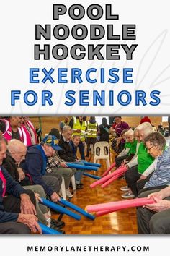
[[94,156],[102,158],[109,155],[109,143],[106,141],[99,141],[94,144]]

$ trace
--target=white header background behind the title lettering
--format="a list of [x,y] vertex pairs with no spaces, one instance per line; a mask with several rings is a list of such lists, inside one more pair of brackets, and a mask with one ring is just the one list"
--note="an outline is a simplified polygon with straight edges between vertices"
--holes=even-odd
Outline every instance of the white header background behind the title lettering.
[[[65,4],[69,8],[72,4],[82,4],[85,9],[91,4],[100,4],[103,7],[104,14],[100,20],[90,20],[87,15],[81,20],[71,20],[68,12],[60,20],[53,20],[53,4]],[[112,4],[112,14],[118,14],[119,20],[105,20],[105,4]],[[53,1],[53,0],[9,0],[1,1],[0,4],[0,22],[1,22],[1,41],[0,41],[0,67],[1,67],[1,94],[0,94],[0,114],[28,114],[28,115],[168,115],[170,104],[169,91],[169,1],[163,0],[115,0],[115,1]],[[51,40],[35,40],[35,25],[51,25]],[[107,40],[107,33],[102,40],[89,40],[89,35],[84,40],[75,40],[71,35],[66,40],[56,40],[53,37],[53,27],[58,24],[65,24],[73,27],[76,24],[83,24],[89,28],[90,24],[114,25],[114,33],[122,35],[122,24],[135,24],[136,40]],[[125,51],[120,46],[119,61],[89,61],[82,59],[75,61],[68,59],[57,61],[53,59],[50,51],[50,60],[34,60],[34,44],[50,44],[50,48],[56,44],[64,44],[71,48],[73,44],[138,44],[133,52],[133,60],[127,61]],[[105,54],[105,48],[101,51]],[[31,67],[44,68],[49,70],[53,68],[68,68],[68,84],[57,84],[46,82],[45,84],[30,84],[29,69]],[[71,68],[79,67],[83,71],[82,84],[71,84],[69,82]],[[116,84],[89,84],[86,82],[84,72],[86,69],[105,68],[106,72],[112,67],[120,69],[120,81]],[[133,68],[133,84],[122,83],[122,69]],[[57,72],[53,72],[53,79],[57,77]],[[106,73],[106,80],[109,75]],[[44,78],[41,72],[40,80]],[[94,77],[92,77],[94,78]],[[99,72],[97,73],[99,80]],[[11,106],[11,90],[21,90],[20,100],[16,101],[16,106]],[[38,95],[38,101],[35,106],[27,106],[23,101],[23,95],[27,90],[35,90]],[[41,92],[50,90],[53,93],[53,105],[42,106]],[[76,103],[73,106],[66,106],[65,93],[67,90],[76,91]],[[79,90],[89,90],[89,106],[79,106]],[[92,90],[106,91],[105,106],[93,106]],[[109,90],[115,92],[115,105],[109,106]],[[117,102],[117,94],[121,90],[128,90],[132,95],[132,101],[128,106],[120,106]],[[135,106],[135,90],[144,90],[146,92],[146,106]],[[158,106],[149,105],[150,93],[152,90],[160,90],[159,98],[161,103]],[[30,101],[32,98],[30,97]]]

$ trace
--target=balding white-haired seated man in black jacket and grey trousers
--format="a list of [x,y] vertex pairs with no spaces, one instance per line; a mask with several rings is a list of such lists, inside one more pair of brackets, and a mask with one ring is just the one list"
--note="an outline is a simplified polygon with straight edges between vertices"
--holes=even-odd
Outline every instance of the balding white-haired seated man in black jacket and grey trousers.
[[[20,184],[27,183],[27,186],[24,186],[24,189],[30,189],[33,192],[35,192],[35,195],[37,197],[36,200],[36,210],[37,210],[37,218],[38,220],[45,224],[46,226],[49,226],[53,229],[59,229],[64,226],[63,221],[55,221],[50,218],[48,214],[48,208],[45,205],[39,204],[38,200],[40,200],[40,197],[46,197],[45,191],[42,186],[40,185],[32,185],[30,186],[28,182],[24,182],[25,174],[24,171],[22,171],[22,168],[19,168],[19,163],[24,160],[25,155],[27,153],[27,148],[19,140],[10,140],[8,143],[8,151],[6,153],[6,158],[3,161],[3,166],[6,168],[6,171],[12,176],[14,180],[17,182],[20,182]],[[31,184],[31,182],[30,182]],[[61,230],[58,230],[61,231]]]

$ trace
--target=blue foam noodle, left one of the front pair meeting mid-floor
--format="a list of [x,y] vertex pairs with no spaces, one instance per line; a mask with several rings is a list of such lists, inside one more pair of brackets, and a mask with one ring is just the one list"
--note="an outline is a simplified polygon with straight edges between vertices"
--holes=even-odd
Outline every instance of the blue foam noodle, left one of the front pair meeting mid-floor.
[[41,197],[40,203],[42,205],[46,205],[49,208],[51,208],[53,210],[56,210],[56,211],[58,211],[60,213],[64,213],[64,214],[66,214],[68,216],[71,216],[72,218],[76,218],[76,220],[78,220],[78,221],[81,219],[81,216],[79,216],[79,214],[73,213],[73,212],[71,212],[71,210],[63,208],[62,206],[57,205],[55,202],[50,202],[49,200],[46,200],[43,197]]

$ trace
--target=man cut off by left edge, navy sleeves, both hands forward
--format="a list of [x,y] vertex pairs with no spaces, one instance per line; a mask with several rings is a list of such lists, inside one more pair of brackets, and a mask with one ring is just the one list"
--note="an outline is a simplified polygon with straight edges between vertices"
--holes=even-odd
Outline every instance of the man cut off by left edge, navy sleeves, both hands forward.
[[35,195],[23,189],[1,166],[4,158],[6,140],[0,136],[0,234],[30,234],[31,231],[41,234],[35,216]]

